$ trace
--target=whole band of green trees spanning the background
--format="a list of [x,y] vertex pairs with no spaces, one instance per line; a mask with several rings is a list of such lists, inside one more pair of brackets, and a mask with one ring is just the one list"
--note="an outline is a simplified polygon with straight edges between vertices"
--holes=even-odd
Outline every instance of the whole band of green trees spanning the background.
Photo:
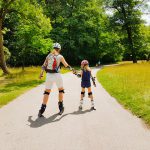
[[[52,50],[72,65],[150,58],[141,0],[1,0],[0,66],[41,65]],[[108,13],[109,12],[109,13]]]

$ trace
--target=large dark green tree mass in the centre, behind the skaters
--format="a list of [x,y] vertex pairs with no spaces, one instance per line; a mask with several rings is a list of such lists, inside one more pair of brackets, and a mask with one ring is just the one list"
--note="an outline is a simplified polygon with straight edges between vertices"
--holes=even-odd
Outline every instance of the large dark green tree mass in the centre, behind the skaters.
[[119,36],[115,39],[116,35],[107,29],[109,21],[102,1],[48,1],[45,12],[52,20],[51,38],[63,45],[62,53],[69,63],[79,64],[82,59],[88,59],[95,64],[104,55],[120,49]]

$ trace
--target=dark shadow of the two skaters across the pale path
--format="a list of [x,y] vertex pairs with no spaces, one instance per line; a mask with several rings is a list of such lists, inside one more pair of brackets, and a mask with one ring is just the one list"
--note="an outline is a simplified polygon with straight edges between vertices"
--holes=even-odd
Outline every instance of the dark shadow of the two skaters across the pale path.
[[[36,120],[33,120],[32,119],[32,116],[29,116],[28,117],[28,122],[30,123],[30,127],[31,128],[39,128],[43,125],[46,125],[46,124],[49,124],[49,123],[54,123],[54,122],[58,122],[60,121],[62,118],[68,116],[68,115],[82,115],[82,114],[85,114],[85,113],[88,113],[88,112],[91,112],[92,110],[91,109],[87,109],[87,110],[84,110],[84,111],[80,111],[80,110],[77,110],[77,111],[74,111],[72,113],[68,113],[68,114],[64,114],[62,116],[58,115],[57,114],[54,114],[52,116],[50,116],[49,118],[45,118],[45,117],[38,117]],[[57,118],[58,116],[60,116],[59,118]]]

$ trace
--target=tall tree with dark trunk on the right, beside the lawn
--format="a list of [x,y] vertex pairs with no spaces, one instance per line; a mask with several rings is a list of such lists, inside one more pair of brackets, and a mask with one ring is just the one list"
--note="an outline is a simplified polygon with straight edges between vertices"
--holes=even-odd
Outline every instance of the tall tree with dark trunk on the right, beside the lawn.
[[[139,7],[142,5],[141,0],[107,0],[109,8],[114,10],[113,20],[116,26],[121,26],[122,31],[126,32],[128,49],[131,51],[133,63],[137,63],[138,51],[142,48],[142,37],[140,34],[140,26],[143,24],[141,20],[141,11]],[[122,33],[123,33],[122,32]]]

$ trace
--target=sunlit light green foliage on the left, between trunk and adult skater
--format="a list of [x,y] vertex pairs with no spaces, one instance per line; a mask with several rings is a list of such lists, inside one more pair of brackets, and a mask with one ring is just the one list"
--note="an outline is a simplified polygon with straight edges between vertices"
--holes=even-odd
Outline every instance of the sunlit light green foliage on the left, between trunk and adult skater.
[[12,53],[10,62],[23,66],[39,64],[39,57],[47,54],[52,46],[52,40],[48,37],[52,29],[50,19],[43,14],[42,7],[35,2],[20,1],[17,12],[8,14],[5,22],[6,27],[10,28],[5,37],[12,35],[7,43]]

